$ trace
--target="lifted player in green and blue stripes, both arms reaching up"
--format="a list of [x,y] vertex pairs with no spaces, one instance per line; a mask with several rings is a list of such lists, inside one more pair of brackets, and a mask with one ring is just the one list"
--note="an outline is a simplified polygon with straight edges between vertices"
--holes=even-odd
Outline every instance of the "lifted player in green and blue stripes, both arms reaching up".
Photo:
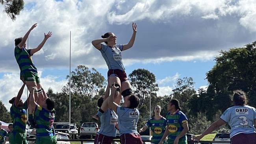
[[48,32],[48,34],[45,34],[45,38],[43,41],[36,47],[30,50],[26,49],[26,40],[28,39],[28,35],[30,32],[37,26],[37,24],[33,24],[33,26],[28,30],[28,32],[24,35],[24,37],[19,37],[15,39],[15,49],[14,49],[14,55],[15,59],[19,65],[20,68],[20,79],[22,81],[26,81],[27,87],[37,87],[38,91],[35,92],[35,100],[37,101],[37,98],[40,98],[43,100],[43,94],[41,93],[41,87],[40,79],[37,74],[37,68],[32,62],[32,55],[41,50],[43,45],[45,44],[46,40],[52,36],[52,32]]

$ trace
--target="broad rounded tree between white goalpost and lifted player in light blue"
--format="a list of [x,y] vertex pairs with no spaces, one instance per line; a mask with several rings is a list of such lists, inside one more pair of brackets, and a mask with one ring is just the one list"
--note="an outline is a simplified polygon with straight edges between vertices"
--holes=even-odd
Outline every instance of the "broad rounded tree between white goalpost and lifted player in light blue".
[[[67,76],[69,79],[69,76]],[[89,97],[92,100],[93,96],[98,94],[98,91],[106,85],[106,80],[95,68],[92,71],[88,67],[79,65],[71,72],[71,89],[79,94],[80,97]],[[67,83],[69,87],[69,82]]]

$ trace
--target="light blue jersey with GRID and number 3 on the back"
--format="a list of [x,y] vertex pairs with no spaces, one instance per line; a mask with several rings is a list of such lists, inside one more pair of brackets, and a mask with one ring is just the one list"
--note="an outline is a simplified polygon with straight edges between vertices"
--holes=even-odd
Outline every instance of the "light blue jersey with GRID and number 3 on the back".
[[239,133],[255,133],[256,109],[249,105],[236,105],[224,111],[221,119],[231,127],[230,138]]

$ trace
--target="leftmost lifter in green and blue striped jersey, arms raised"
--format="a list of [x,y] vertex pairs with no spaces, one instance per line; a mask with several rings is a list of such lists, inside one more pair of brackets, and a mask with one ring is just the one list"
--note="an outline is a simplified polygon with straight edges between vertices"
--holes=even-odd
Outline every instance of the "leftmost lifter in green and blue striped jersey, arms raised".
[[15,144],[27,144],[25,131],[27,122],[26,110],[28,109],[29,98],[24,103],[22,100],[20,100],[25,85],[26,84],[24,82],[17,97],[13,97],[11,100],[9,100],[9,103],[12,104],[10,112],[13,119],[13,137],[10,138],[10,141],[14,142]]

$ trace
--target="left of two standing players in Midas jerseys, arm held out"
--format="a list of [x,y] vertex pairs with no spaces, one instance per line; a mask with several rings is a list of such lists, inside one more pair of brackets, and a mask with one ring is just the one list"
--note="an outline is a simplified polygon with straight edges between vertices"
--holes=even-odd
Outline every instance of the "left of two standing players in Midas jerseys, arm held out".
[[153,137],[151,139],[151,144],[158,144],[163,137],[163,133],[165,132],[166,127],[166,119],[160,115],[161,106],[156,105],[154,107],[155,116],[147,121],[147,124],[139,129],[139,132],[145,131],[148,127],[151,128]]

